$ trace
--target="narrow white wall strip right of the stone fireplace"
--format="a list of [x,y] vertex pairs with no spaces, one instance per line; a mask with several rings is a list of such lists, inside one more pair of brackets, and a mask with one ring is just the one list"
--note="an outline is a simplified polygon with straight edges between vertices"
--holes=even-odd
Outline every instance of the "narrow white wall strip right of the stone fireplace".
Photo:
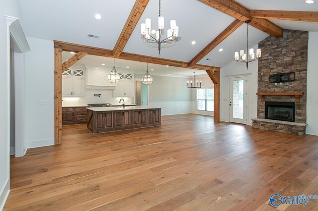
[[318,33],[309,33],[307,69],[307,129],[306,133],[318,135]]

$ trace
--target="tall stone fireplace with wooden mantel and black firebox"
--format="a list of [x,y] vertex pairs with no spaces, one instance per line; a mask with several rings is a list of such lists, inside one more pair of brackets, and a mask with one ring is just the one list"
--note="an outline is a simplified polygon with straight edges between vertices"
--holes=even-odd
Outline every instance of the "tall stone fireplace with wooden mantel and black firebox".
[[[258,93],[269,95],[258,97],[253,127],[305,133],[308,32],[284,30],[282,37],[269,36],[258,47],[262,51],[258,60]],[[269,80],[274,74],[291,72],[295,72],[294,81],[271,83]]]

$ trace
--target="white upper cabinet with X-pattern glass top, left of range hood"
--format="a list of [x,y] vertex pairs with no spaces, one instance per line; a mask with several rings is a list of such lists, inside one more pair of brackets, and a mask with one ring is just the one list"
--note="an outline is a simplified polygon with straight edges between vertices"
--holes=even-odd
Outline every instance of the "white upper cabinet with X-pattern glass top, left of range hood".
[[62,73],[62,96],[83,97],[85,96],[84,70],[67,69]]

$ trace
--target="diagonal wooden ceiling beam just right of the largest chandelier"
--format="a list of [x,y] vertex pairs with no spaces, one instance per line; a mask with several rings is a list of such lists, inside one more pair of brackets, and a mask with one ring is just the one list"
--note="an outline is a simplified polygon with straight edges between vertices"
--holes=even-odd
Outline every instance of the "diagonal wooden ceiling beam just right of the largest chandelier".
[[191,61],[189,61],[189,67],[194,66],[198,63],[204,56],[210,53],[215,47],[217,47],[222,41],[229,37],[235,30],[237,30],[243,24],[242,21],[236,19],[230,26],[228,26],[221,34],[219,34],[209,45],[207,45],[200,53],[194,56]]

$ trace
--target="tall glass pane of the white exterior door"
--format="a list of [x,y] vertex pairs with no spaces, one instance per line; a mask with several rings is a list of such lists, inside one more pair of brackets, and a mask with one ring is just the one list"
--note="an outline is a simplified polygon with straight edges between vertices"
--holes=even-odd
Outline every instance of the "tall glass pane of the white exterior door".
[[244,80],[233,81],[233,118],[243,118]]

